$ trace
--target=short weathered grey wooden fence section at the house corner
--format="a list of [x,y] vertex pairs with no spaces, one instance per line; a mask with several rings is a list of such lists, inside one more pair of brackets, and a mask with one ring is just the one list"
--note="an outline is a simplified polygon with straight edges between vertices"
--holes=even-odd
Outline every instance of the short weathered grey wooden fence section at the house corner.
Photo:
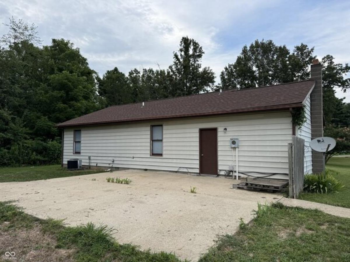
[[305,140],[293,136],[288,144],[289,197],[298,198],[304,187],[304,144]]

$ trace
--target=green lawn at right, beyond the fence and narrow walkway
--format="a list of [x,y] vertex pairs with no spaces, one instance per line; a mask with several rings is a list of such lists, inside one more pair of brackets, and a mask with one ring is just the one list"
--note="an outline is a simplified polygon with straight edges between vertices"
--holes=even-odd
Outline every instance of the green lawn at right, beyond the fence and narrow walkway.
[[332,157],[327,163],[327,168],[337,172],[334,174],[334,176],[343,183],[344,187],[339,190],[338,193],[303,193],[299,198],[318,203],[350,208],[350,157]]

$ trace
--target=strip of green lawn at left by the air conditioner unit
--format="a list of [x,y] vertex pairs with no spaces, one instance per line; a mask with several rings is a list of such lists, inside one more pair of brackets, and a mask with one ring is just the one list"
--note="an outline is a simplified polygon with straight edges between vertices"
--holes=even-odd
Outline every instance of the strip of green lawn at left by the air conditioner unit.
[[60,165],[33,166],[33,167],[1,167],[0,182],[23,182],[56,177],[78,176],[104,172],[101,170],[68,171]]

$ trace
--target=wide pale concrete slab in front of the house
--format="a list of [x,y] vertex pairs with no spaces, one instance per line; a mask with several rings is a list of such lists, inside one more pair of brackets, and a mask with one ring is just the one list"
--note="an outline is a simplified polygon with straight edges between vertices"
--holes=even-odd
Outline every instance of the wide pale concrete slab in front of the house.
[[[107,183],[108,176],[132,182]],[[197,187],[196,194],[189,192],[190,186]],[[114,237],[120,243],[196,261],[217,235],[235,233],[239,218],[249,221],[257,202],[281,198],[231,186],[232,180],[225,178],[122,170],[0,183],[0,199],[16,200],[39,218],[64,218],[70,225],[103,223],[118,230]]]

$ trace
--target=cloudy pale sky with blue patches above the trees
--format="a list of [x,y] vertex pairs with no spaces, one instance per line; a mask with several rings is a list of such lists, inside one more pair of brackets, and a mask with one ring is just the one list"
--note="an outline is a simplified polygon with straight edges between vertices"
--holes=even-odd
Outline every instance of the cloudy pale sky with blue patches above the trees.
[[[35,23],[43,44],[70,39],[101,75],[115,66],[167,68],[186,35],[203,46],[203,65],[217,76],[262,38],[350,62],[350,1],[0,0],[0,22],[10,16]],[[350,91],[337,95],[350,102]]]

